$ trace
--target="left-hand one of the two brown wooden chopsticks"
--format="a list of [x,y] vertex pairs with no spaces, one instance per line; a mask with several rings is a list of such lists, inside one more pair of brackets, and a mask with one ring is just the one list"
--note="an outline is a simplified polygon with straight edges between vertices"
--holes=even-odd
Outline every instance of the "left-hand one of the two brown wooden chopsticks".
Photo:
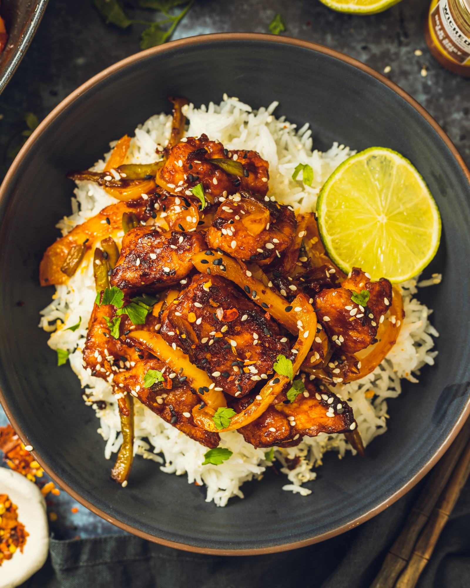
[[[412,556],[419,533],[428,522],[431,513],[434,512],[433,509],[439,496],[441,496],[447,485],[469,439],[470,419],[465,422],[451,447],[434,466],[421,495],[419,495],[417,502],[409,513],[403,529],[395,539],[387,556],[385,556],[380,572],[375,577],[370,588],[394,588],[398,576],[400,576]],[[454,476],[452,476],[452,479],[454,479]],[[402,584],[402,586],[407,585]]]

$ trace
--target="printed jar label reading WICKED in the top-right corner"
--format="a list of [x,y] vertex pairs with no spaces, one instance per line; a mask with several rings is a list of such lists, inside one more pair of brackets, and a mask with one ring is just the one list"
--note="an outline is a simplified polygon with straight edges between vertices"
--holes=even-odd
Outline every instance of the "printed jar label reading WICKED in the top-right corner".
[[470,66],[470,39],[455,22],[448,0],[439,0],[429,13],[429,29],[442,54],[458,64]]

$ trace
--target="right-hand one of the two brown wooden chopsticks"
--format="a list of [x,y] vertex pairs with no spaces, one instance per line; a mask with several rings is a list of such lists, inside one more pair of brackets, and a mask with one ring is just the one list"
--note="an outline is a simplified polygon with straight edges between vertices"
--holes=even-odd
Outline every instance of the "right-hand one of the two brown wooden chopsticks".
[[396,588],[414,588],[422,570],[426,567],[434,551],[442,529],[449,518],[455,503],[470,475],[470,443],[464,449],[447,486],[432,510],[429,520],[422,530],[414,552],[401,576],[395,584]]

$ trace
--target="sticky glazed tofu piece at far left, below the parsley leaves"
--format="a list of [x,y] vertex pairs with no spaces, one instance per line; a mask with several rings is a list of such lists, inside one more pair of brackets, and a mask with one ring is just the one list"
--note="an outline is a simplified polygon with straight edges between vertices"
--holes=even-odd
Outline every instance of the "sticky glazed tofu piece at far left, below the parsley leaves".
[[[95,303],[88,323],[88,335],[83,349],[83,366],[92,376],[110,380],[110,376],[119,370],[130,368],[134,362],[146,358],[149,353],[126,345],[125,340],[115,338],[110,334],[110,326],[116,319],[116,308],[113,305]],[[135,326],[125,314],[120,315],[119,334],[125,333]],[[145,325],[140,329],[156,330],[158,320],[152,313],[146,317]]]

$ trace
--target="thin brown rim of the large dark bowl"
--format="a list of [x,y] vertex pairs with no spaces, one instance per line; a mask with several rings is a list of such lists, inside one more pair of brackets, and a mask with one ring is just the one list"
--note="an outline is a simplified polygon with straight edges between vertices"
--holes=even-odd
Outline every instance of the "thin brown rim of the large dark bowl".
[[[339,51],[335,51],[334,49],[330,49],[328,47],[325,47],[324,45],[319,45],[317,43],[313,43],[310,41],[303,41],[301,39],[294,39],[294,38],[288,37],[288,36],[275,36],[275,35],[268,35],[268,34],[263,34],[263,33],[215,33],[215,34],[210,34],[210,35],[192,36],[192,37],[187,37],[184,39],[179,39],[177,41],[171,41],[165,45],[152,47],[150,49],[146,49],[145,51],[140,51],[136,54],[130,55],[129,57],[126,57],[125,59],[118,61],[116,64],[113,64],[113,65],[109,66],[108,68],[103,69],[103,71],[99,72],[99,74],[96,74],[95,76],[90,78],[87,82],[85,82],[81,86],[79,86],[79,88],[77,88],[76,90],[71,92],[39,124],[38,128],[36,128],[36,130],[32,133],[31,137],[28,139],[28,141],[26,141],[25,145],[23,146],[21,151],[16,156],[15,161],[12,163],[11,167],[9,168],[8,172],[6,173],[6,176],[5,176],[4,181],[2,182],[2,185],[0,186],[0,201],[5,196],[6,186],[8,186],[8,183],[14,177],[14,175],[16,173],[16,169],[18,168],[19,164],[21,163],[21,161],[24,158],[24,156],[26,155],[26,153],[31,148],[32,144],[41,135],[41,133],[46,129],[46,127],[49,125],[49,123],[51,123],[53,121],[53,119],[55,119],[56,116],[58,116],[62,111],[64,111],[66,108],[68,108],[68,106],[73,101],[75,101],[75,99],[79,98],[79,96],[82,95],[82,93],[88,91],[90,88],[92,88],[94,85],[96,85],[96,83],[107,78],[109,75],[114,74],[116,71],[119,71],[120,69],[126,68],[127,65],[138,62],[138,61],[140,61],[140,59],[145,59],[149,55],[164,53],[164,52],[170,51],[172,49],[183,48],[183,47],[187,47],[189,45],[200,45],[200,44],[204,44],[204,43],[210,43],[212,41],[269,41],[269,42],[279,43],[279,44],[284,44],[284,45],[293,45],[293,46],[301,47],[303,49],[311,49],[313,51],[323,53],[324,55],[328,55],[328,56],[333,57],[335,59],[339,59],[340,61],[343,61],[348,65],[352,65],[353,67],[360,69],[362,72],[365,72],[365,74],[371,75],[373,78],[384,83],[388,88],[390,88],[392,91],[397,93],[401,98],[403,98],[405,101],[407,101],[408,104],[411,105],[425,119],[425,121],[427,121],[429,123],[429,125],[432,126],[434,131],[437,132],[439,137],[442,139],[442,141],[444,141],[445,145],[447,145],[449,151],[452,153],[452,155],[454,156],[454,158],[458,162],[459,166],[462,169],[462,172],[464,172],[464,175],[466,176],[466,178],[468,179],[468,182],[470,184],[470,171],[469,171],[469,169],[465,165],[465,162],[462,159],[459,152],[457,151],[454,143],[452,143],[451,139],[449,139],[449,137],[442,130],[442,128],[438,125],[438,123],[434,120],[434,118],[432,118],[432,116],[417,101],[415,101],[414,98],[412,98],[407,92],[405,92],[403,89],[401,89],[400,86],[398,86],[394,82],[391,82],[390,79],[386,78],[382,74],[379,74],[377,71],[370,68],[368,65],[365,65],[362,62],[358,61],[357,59],[354,59],[354,58],[352,58],[348,55],[345,55]],[[26,446],[30,445],[30,443],[28,442],[28,439],[26,438],[26,435],[22,432],[21,429],[19,429],[18,423],[16,423],[14,416],[12,415],[11,411],[9,410],[8,405],[6,403],[6,400],[5,400],[5,397],[2,393],[2,390],[0,390],[0,404],[2,405],[3,409],[5,410],[5,413],[9,419],[9,422],[14,427],[16,433],[18,433],[18,436],[20,437],[20,439],[22,440],[24,445],[26,445]],[[39,456],[35,450],[32,450],[31,453],[35,457],[35,459],[38,461],[38,463],[41,465],[41,467],[45,470],[45,472],[51,477],[51,479],[54,482],[56,482],[62,489],[64,489],[70,496],[72,496],[75,500],[77,500],[77,502],[79,502],[80,504],[85,506],[87,509],[91,510],[93,513],[95,513],[95,515],[102,517],[102,519],[105,519],[109,523],[112,523],[115,526],[120,527],[120,529],[123,529],[129,533],[132,533],[132,534],[135,534],[139,537],[142,537],[142,539],[152,541],[153,543],[159,543],[159,544],[164,545],[166,547],[173,547],[175,549],[181,549],[181,550],[193,552],[193,553],[203,553],[203,554],[207,554],[207,555],[221,555],[221,556],[226,556],[226,555],[230,555],[230,556],[262,555],[262,554],[266,554],[266,553],[277,553],[277,552],[288,551],[291,549],[298,549],[300,547],[306,547],[307,545],[311,545],[314,543],[320,543],[321,541],[324,541],[326,539],[331,539],[331,537],[335,537],[341,533],[344,533],[350,529],[353,529],[354,527],[357,527],[359,524],[362,524],[365,521],[371,519],[375,515],[378,515],[378,513],[382,512],[382,510],[386,509],[388,506],[390,506],[394,502],[396,502],[399,498],[404,496],[409,490],[411,490],[411,488],[413,486],[415,486],[419,482],[419,480],[422,479],[422,477],[424,477],[429,472],[431,467],[434,466],[435,463],[438,462],[438,460],[442,457],[442,455],[444,455],[445,451],[449,448],[449,446],[451,445],[452,441],[455,439],[455,436],[457,435],[457,433],[461,429],[462,425],[464,424],[464,422],[467,419],[467,417],[469,416],[469,414],[470,414],[470,399],[467,400],[465,407],[461,412],[461,415],[459,415],[458,419],[456,420],[454,427],[452,427],[451,431],[449,432],[449,435],[447,436],[447,439],[445,439],[445,441],[444,441],[444,443],[442,443],[441,447],[439,447],[437,452],[435,452],[434,456],[432,456],[431,459],[429,459],[429,461],[426,463],[426,465],[424,465],[421,468],[421,470],[419,470],[419,472],[417,472],[411,478],[411,480],[408,480],[408,482],[404,486],[402,486],[400,490],[397,490],[397,492],[395,492],[392,496],[388,497],[387,500],[384,500],[384,502],[380,503],[380,505],[375,506],[373,509],[369,510],[367,513],[364,513],[364,515],[357,517],[356,519],[350,521],[349,523],[345,523],[345,524],[341,525],[340,527],[337,527],[337,529],[328,531],[327,533],[322,533],[321,535],[318,535],[316,537],[312,537],[311,539],[304,539],[304,540],[292,542],[292,543],[284,543],[284,544],[276,545],[276,546],[272,546],[272,547],[260,547],[260,548],[253,548],[253,549],[212,549],[212,548],[206,548],[206,547],[196,547],[196,546],[192,546],[192,545],[186,545],[184,543],[169,541],[166,539],[162,539],[160,537],[156,537],[156,536],[151,535],[149,533],[145,533],[143,531],[140,531],[139,529],[136,529],[135,527],[132,527],[129,524],[120,521],[119,519],[116,519],[116,517],[112,517],[112,516],[107,515],[105,512],[103,512],[102,510],[100,510],[97,507],[95,507],[94,505],[92,505],[92,503],[90,503],[88,500],[85,500],[82,496],[80,496],[77,492],[75,492],[75,490],[70,488],[70,486],[68,484],[63,482],[63,480],[59,476],[57,476],[49,468],[49,466],[46,465],[46,463],[43,462],[43,460],[41,459],[41,456]]]

